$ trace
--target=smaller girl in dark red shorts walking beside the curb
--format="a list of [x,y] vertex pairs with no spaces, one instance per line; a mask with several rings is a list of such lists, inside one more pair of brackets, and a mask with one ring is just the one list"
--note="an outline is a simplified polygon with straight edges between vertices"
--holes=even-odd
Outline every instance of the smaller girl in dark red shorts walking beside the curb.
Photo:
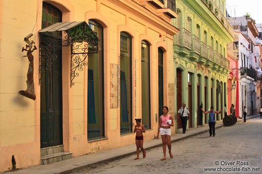
[[145,133],[145,127],[141,124],[141,119],[134,119],[136,122],[136,125],[134,126],[134,133],[135,135],[135,144],[136,144],[136,155],[137,157],[135,160],[139,159],[139,147],[143,152],[143,158],[145,158],[145,150],[143,148],[143,133]]

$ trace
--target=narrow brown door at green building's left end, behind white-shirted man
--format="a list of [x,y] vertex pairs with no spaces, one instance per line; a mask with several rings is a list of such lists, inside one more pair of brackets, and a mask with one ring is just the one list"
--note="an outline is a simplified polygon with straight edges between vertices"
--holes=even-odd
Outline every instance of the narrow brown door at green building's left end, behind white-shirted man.
[[[176,69],[176,106],[177,111],[182,107],[182,71],[179,69]],[[176,127],[177,129],[182,128],[180,117],[177,117]]]

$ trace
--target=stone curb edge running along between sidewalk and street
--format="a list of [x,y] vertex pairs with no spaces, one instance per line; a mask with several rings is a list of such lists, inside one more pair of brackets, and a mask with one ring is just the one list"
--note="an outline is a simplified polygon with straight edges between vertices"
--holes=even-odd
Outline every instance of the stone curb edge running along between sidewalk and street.
[[[247,118],[247,120],[255,118],[255,117],[258,117],[258,116],[260,116],[260,115],[255,115],[253,117]],[[242,119],[238,119],[237,120],[237,122],[240,122],[240,121],[242,121]],[[219,126],[216,127],[216,129],[221,128],[221,127],[224,127],[224,125],[223,124],[219,125]],[[204,131],[200,131],[198,133],[191,134],[191,135],[188,135],[188,136],[185,136],[185,137],[181,137],[179,139],[173,139],[173,140],[171,140],[171,143],[174,143],[174,142],[177,142],[177,141],[181,141],[181,140],[184,140],[184,139],[188,139],[188,138],[200,135],[200,134],[204,134],[204,133],[206,133],[208,131],[209,131],[209,129],[204,130]],[[144,149],[145,150],[151,150],[153,148],[157,148],[157,147],[161,147],[161,146],[162,146],[162,142],[159,143],[159,144],[150,146],[150,147],[146,147]],[[58,172],[58,173],[55,173],[55,174],[70,174],[70,173],[72,173],[72,172],[74,172],[76,170],[81,170],[81,169],[84,169],[84,168],[87,168],[87,167],[96,166],[96,165],[100,165],[100,164],[110,163],[110,162],[113,162],[113,161],[116,161],[116,160],[120,160],[122,158],[129,157],[129,156],[134,155],[134,154],[136,154],[136,151],[129,152],[129,153],[126,153],[126,154],[123,154],[123,155],[118,155],[118,156],[115,156],[115,157],[112,157],[112,158],[104,159],[104,160],[101,160],[101,161],[98,161],[98,162],[95,162],[95,163],[91,163],[91,164],[87,164],[87,165],[84,165],[84,166],[76,167],[74,169],[66,170],[66,171],[63,171],[63,172]]]

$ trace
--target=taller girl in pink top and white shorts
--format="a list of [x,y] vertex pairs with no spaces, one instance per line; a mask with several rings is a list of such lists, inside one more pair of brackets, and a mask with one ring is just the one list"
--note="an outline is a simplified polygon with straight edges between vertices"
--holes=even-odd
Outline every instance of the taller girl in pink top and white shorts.
[[168,107],[164,106],[163,115],[159,117],[159,126],[157,132],[157,139],[159,138],[160,134],[163,143],[164,158],[162,158],[161,160],[166,160],[167,144],[170,158],[173,158],[173,154],[171,152],[171,126],[174,126],[173,117],[170,114],[168,114]]

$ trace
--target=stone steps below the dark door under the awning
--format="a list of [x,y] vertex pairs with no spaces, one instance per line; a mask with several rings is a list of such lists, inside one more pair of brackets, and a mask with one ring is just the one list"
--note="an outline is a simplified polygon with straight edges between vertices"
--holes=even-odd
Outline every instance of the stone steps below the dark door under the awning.
[[51,164],[58,161],[68,160],[73,157],[72,152],[59,152],[54,154],[49,154],[41,157],[42,164]]

